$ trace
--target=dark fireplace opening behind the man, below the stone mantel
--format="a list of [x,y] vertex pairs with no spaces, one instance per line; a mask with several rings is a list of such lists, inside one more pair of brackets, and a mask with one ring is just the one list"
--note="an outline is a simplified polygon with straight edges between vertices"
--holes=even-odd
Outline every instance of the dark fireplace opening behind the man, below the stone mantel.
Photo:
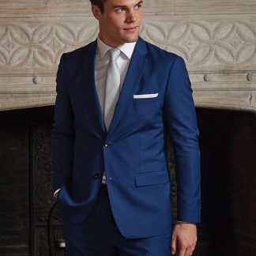
[[[197,112],[202,223],[194,255],[256,255],[255,115]],[[64,255],[58,206],[51,197],[53,113],[54,107],[0,112],[1,256]]]

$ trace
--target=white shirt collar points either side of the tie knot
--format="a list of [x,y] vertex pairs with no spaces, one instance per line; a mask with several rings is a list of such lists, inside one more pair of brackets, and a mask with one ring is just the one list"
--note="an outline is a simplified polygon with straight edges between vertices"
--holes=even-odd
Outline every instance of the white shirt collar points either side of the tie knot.
[[[134,47],[135,47],[136,42],[134,43],[123,43],[119,48],[119,50],[126,55],[127,58],[131,58],[134,52]],[[97,47],[98,47],[98,52],[100,54],[100,59],[104,58],[106,55],[107,51],[111,49],[110,46],[108,46],[106,43],[104,43],[102,40],[100,40],[100,36],[97,37]]]

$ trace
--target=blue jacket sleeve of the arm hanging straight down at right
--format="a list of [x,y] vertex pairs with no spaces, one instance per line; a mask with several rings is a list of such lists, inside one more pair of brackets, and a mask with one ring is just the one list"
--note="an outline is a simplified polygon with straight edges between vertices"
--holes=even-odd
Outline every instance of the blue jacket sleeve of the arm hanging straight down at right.
[[200,152],[198,126],[190,78],[183,58],[171,64],[164,99],[164,119],[175,152],[177,219],[200,222]]

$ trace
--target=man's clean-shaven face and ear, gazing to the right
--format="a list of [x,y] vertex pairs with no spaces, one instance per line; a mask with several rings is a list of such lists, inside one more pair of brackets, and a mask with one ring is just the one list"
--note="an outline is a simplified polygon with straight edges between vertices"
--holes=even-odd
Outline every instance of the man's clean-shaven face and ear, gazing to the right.
[[136,42],[142,17],[140,0],[107,0],[104,13],[92,5],[92,13],[100,24],[100,39],[111,47]]

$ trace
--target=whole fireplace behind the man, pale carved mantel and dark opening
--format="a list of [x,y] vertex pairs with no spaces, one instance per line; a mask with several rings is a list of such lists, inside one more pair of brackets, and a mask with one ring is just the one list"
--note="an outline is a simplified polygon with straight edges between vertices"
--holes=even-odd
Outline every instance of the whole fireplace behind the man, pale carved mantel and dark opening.
[[[145,0],[141,36],[183,56],[194,89],[201,132],[198,256],[256,255],[255,17],[252,0]],[[0,3],[0,256],[64,255],[51,198],[55,73],[63,52],[97,32],[88,2]],[[169,141],[167,152],[174,176]]]

